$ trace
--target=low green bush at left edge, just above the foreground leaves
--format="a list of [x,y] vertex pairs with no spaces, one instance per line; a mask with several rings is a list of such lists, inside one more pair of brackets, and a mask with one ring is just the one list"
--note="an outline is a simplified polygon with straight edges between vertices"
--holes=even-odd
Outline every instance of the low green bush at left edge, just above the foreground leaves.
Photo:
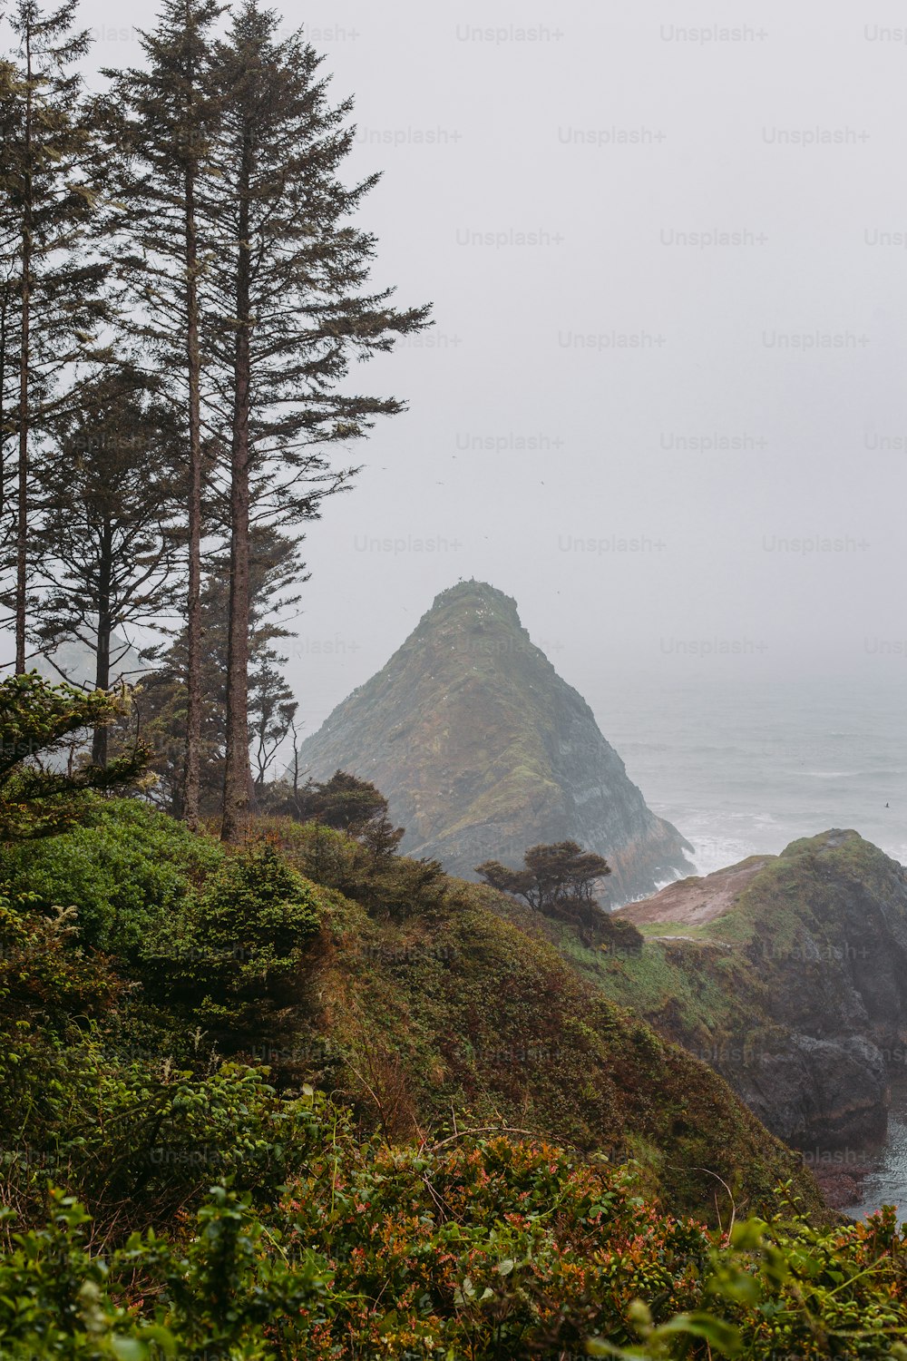
[[98,1028],[61,1041],[19,1026],[0,1049],[0,1124],[7,1204],[34,1219],[50,1180],[122,1234],[223,1177],[273,1199],[306,1155],[311,1102],[277,1096],[267,1070],[193,1072],[169,1056],[118,1059]]

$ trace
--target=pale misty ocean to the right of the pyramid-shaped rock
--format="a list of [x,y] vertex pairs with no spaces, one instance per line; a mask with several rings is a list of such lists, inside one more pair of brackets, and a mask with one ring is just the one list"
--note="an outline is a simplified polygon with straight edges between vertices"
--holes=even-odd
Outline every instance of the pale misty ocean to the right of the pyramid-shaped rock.
[[600,682],[585,695],[699,874],[828,827],[907,862],[907,689],[893,678]]

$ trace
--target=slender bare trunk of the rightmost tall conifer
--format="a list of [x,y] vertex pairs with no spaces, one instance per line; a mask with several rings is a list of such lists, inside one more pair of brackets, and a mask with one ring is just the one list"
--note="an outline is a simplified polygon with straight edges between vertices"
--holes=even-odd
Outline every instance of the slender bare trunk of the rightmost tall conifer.
[[234,352],[233,449],[230,479],[230,634],[227,641],[227,751],[222,838],[242,838],[252,795],[249,761],[249,180],[246,136],[238,185],[237,340]]

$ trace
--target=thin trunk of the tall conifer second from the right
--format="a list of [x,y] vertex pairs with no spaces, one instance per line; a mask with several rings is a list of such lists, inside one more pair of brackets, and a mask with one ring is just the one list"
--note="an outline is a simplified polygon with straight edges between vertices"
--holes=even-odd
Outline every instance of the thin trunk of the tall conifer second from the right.
[[186,599],[186,764],[184,817],[199,826],[201,789],[201,354],[194,174],[186,171],[186,359],[189,366],[189,591]]

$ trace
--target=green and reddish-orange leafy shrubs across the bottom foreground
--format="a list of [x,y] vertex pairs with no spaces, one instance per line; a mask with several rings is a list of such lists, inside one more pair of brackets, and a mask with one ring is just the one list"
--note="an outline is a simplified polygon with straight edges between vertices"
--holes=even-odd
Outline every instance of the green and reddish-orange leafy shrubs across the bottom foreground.
[[54,1190],[0,1259],[3,1354],[904,1361],[893,1213],[817,1230],[790,1206],[715,1236],[645,1200],[631,1166],[469,1131],[390,1149],[306,1100],[272,1200],[218,1180],[166,1232],[98,1251]]

